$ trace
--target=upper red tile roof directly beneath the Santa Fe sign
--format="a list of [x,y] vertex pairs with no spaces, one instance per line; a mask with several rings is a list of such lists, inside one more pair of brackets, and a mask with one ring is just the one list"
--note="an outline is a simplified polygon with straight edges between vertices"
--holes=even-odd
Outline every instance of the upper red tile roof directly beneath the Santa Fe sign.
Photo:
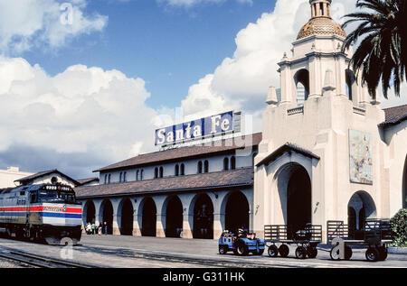
[[220,140],[213,142],[212,145],[209,146],[206,144],[194,145],[160,152],[150,152],[138,155],[137,157],[133,157],[125,161],[119,161],[96,171],[113,171],[142,165],[152,165],[158,162],[162,164],[169,161],[204,157],[210,154],[213,155],[222,152],[232,152],[233,150],[243,149],[245,147],[257,146],[259,145],[260,141],[261,133],[258,133],[238,136],[233,139]]

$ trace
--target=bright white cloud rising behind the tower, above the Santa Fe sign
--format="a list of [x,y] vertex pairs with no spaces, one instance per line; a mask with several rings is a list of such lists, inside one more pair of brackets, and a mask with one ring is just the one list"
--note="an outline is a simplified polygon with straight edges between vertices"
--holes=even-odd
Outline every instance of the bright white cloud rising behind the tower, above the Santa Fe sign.
[[[355,11],[355,2],[333,1],[334,20],[342,23],[343,15]],[[233,57],[222,60],[213,74],[189,89],[182,101],[185,115],[202,109],[208,115],[235,108],[254,115],[254,121],[260,122],[257,117],[265,107],[268,87],[279,87],[277,63],[284,52],[290,54],[291,42],[296,40],[310,14],[308,0],[278,0],[272,13],[262,14],[256,23],[249,23],[236,35]]]

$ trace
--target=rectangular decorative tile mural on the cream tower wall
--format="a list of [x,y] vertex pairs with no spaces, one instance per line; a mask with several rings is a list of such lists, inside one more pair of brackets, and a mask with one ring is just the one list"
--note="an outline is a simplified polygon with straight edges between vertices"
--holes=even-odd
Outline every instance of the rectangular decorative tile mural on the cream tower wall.
[[372,135],[349,129],[351,182],[373,184]]

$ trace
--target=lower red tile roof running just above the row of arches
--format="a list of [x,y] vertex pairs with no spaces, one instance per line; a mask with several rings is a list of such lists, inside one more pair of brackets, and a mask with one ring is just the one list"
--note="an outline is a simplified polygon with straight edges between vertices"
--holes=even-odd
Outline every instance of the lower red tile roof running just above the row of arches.
[[75,188],[77,198],[95,198],[107,196],[139,195],[148,193],[187,191],[199,189],[226,189],[233,187],[251,187],[253,168],[241,168],[232,171],[216,171],[204,174],[166,177],[154,180],[139,180]]

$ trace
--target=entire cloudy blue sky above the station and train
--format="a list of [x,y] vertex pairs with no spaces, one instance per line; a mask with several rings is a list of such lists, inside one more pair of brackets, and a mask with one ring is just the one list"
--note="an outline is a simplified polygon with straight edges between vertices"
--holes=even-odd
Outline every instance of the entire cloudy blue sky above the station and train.
[[[334,0],[334,19],[354,7]],[[242,110],[260,131],[309,16],[308,0],[0,0],[0,169],[93,177],[155,151],[174,116]]]

